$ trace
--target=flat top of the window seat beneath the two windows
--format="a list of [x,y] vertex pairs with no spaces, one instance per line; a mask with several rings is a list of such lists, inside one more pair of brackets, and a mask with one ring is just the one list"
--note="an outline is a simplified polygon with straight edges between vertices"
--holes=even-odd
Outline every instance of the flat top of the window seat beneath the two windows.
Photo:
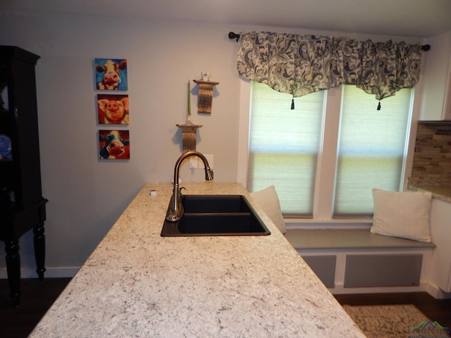
[[409,249],[435,244],[372,234],[368,229],[288,229],[285,238],[295,249]]

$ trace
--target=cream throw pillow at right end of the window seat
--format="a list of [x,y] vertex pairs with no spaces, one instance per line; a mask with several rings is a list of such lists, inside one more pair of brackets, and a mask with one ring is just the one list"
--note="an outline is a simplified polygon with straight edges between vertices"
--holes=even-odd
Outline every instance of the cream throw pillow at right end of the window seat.
[[431,242],[430,192],[388,192],[373,189],[374,215],[370,232]]

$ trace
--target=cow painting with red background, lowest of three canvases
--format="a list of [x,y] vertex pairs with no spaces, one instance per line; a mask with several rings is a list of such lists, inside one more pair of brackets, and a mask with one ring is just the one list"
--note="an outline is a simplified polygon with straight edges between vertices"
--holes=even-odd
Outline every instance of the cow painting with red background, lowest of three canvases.
[[130,158],[128,130],[99,130],[99,158],[128,160]]

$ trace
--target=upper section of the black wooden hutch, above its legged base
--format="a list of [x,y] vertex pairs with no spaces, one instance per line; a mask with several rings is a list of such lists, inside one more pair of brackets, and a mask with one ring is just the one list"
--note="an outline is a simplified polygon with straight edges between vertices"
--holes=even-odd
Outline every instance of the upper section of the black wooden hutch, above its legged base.
[[[0,161],[1,207],[42,199],[35,64],[39,56],[0,46],[0,142],[11,147]],[[4,150],[5,152],[5,150]]]

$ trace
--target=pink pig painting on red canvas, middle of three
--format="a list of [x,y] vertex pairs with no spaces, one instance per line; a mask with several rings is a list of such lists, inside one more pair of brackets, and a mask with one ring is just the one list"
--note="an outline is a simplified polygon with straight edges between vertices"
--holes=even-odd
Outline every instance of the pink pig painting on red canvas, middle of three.
[[97,94],[97,116],[102,125],[128,125],[128,95]]

